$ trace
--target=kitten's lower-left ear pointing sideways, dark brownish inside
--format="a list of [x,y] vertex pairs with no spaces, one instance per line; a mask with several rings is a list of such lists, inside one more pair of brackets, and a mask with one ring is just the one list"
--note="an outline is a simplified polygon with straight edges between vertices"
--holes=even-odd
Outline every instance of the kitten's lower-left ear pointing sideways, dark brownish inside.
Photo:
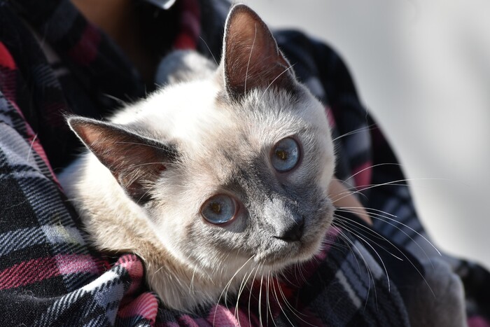
[[78,116],[71,116],[67,121],[127,195],[139,204],[151,200],[149,188],[176,160],[173,146],[130,132],[123,125]]

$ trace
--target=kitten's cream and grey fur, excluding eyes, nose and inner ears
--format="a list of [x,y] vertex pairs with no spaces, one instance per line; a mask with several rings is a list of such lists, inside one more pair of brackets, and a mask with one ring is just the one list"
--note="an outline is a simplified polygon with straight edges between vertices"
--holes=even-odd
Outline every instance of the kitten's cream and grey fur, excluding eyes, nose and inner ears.
[[[235,15],[258,19],[243,6]],[[262,41],[268,42],[265,50],[272,49],[280,63],[287,64],[274,53],[269,32]],[[223,74],[232,71],[223,72],[223,63],[216,71],[208,63],[201,65],[199,74],[188,74],[196,60],[186,56],[196,55],[181,55],[183,60],[176,55],[171,62],[183,62],[186,74],[171,70],[169,74],[176,75],[166,81],[173,84],[110,118],[112,126],[176,146],[178,158],[165,164],[148,189],[153,200],[137,204],[90,151],[59,180],[94,246],[137,253],[146,265],[148,284],[165,305],[193,311],[217,302],[222,294],[237,293],[249,281],[247,276],[280,272],[318,252],[332,220],[328,185],[335,160],[323,106],[293,74],[284,84],[294,92],[268,84],[231,99]],[[291,172],[279,174],[270,156],[285,137],[297,139],[302,161]],[[117,142],[109,146],[118,148]],[[240,209],[230,223],[213,225],[200,209],[209,197],[221,193],[235,197]],[[286,242],[274,230],[276,219],[286,219],[289,210],[304,215],[298,242]]]

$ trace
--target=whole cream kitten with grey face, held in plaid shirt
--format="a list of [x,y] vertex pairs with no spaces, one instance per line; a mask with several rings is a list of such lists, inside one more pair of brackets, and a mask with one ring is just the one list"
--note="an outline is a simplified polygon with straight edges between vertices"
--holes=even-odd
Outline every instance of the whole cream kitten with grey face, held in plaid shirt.
[[167,86],[109,121],[68,118],[90,151],[60,181],[97,249],[137,253],[165,305],[192,312],[319,251],[335,158],[323,105],[248,7],[218,67],[164,67]]

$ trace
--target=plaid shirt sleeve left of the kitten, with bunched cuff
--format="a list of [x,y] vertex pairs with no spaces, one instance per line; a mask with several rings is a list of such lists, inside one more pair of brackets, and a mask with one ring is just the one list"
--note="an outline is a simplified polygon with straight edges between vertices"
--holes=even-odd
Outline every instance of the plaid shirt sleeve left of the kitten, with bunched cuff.
[[0,42],[0,325],[150,325],[158,302],[140,291],[141,260],[111,265],[87,247],[16,101],[19,78]]

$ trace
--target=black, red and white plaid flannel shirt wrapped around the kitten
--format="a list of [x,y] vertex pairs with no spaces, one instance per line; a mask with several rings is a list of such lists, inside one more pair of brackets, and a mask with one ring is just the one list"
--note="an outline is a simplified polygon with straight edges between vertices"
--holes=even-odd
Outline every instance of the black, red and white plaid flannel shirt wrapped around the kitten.
[[[218,58],[227,11],[224,1],[180,0],[153,13],[155,21],[174,18],[162,55],[196,48]],[[428,301],[414,290],[428,286],[434,271],[456,272],[451,281],[463,281],[468,324],[490,326],[489,273],[428,242],[396,158],[342,60],[299,32],[276,39],[325,103],[337,178],[363,195],[374,226],[339,209],[314,260],[187,314],[148,290],[140,258],[90,248],[54,173],[79,147],[63,113],[99,118],[152,86],[69,1],[0,0],[1,326],[409,326]],[[432,301],[444,301],[436,295]]]

